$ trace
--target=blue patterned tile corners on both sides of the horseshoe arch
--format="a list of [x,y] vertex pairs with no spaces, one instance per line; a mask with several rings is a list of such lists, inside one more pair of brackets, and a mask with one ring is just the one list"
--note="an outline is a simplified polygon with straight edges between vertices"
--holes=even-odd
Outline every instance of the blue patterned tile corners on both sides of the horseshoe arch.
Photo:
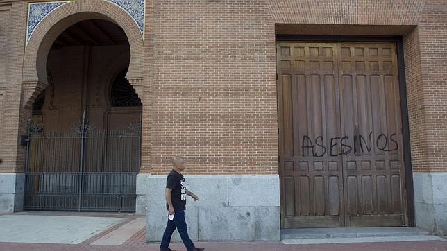
[[[135,21],[142,36],[144,34],[144,9],[146,8],[145,0],[104,0],[110,3],[115,3],[117,6],[128,12],[130,17]],[[26,42],[28,42],[31,34],[37,24],[44,19],[51,11],[62,6],[69,1],[54,1],[54,2],[42,2],[42,3],[29,3],[28,4],[28,24],[26,31]],[[144,36],[143,36],[144,37]]]

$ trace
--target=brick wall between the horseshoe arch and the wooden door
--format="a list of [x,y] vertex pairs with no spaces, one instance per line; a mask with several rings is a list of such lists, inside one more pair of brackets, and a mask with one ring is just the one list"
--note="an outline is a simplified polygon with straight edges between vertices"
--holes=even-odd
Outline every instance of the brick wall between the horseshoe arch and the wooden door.
[[[274,24],[264,1],[156,1],[153,161],[189,173],[277,173]],[[144,142],[144,144],[146,144]],[[188,169],[187,169],[188,171]]]

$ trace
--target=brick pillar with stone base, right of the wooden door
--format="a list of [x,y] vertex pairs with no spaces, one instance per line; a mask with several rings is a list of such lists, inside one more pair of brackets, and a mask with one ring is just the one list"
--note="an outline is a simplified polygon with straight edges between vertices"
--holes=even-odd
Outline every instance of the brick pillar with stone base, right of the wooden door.
[[447,234],[447,4],[425,3],[405,35],[416,226]]

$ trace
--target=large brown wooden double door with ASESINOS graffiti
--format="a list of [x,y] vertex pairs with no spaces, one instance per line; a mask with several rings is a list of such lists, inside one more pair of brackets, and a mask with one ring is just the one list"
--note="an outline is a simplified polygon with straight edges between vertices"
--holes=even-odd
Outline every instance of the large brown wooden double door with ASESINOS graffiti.
[[394,43],[277,44],[282,227],[407,225]]

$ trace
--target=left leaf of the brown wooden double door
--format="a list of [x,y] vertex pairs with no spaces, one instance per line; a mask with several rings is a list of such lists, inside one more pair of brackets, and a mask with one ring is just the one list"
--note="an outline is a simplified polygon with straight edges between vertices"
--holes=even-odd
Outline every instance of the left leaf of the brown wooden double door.
[[[278,44],[282,226],[338,227],[344,218],[335,44]],[[293,200],[290,201],[290,200]],[[293,212],[293,214],[292,214]]]

